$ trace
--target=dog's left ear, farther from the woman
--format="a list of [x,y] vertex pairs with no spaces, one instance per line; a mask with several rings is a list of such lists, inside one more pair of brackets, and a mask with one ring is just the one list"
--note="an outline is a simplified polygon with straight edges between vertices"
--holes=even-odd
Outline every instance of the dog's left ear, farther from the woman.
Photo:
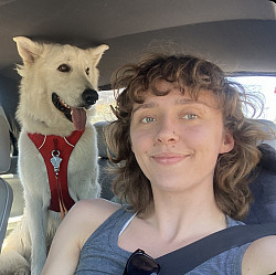
[[25,36],[15,36],[13,41],[17,43],[18,52],[24,64],[30,64],[40,55],[41,45]]

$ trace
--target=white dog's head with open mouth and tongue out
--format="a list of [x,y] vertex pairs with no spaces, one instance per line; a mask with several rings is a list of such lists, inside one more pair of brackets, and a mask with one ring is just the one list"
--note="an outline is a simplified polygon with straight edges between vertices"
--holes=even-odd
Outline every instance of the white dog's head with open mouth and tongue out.
[[22,76],[19,120],[24,125],[22,120],[30,117],[35,120],[33,125],[38,123],[52,130],[68,127],[68,123],[83,129],[87,110],[98,99],[96,65],[108,46],[83,50],[38,43],[24,36],[14,41],[23,60],[23,65],[18,66]]

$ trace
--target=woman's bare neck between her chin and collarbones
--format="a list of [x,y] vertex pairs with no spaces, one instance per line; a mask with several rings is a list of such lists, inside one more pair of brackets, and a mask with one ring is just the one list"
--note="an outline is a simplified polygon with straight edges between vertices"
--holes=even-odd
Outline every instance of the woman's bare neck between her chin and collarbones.
[[226,228],[225,214],[219,209],[213,192],[155,195],[148,212],[139,216],[164,239],[211,234]]

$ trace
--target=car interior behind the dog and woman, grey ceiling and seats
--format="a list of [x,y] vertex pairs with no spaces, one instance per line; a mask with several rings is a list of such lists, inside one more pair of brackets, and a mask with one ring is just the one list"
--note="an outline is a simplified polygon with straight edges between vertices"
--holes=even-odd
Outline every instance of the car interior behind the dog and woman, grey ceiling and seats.
[[[83,49],[107,44],[109,50],[98,64],[99,95],[110,91],[116,68],[138,61],[144,53],[162,51],[205,57],[221,66],[230,77],[269,77],[274,85],[270,98],[276,105],[275,1],[1,1],[0,247],[4,234],[20,221],[24,208],[17,172],[20,126],[15,110],[20,76],[14,68],[21,64],[21,59],[13,38],[18,35]],[[110,105],[108,101],[105,104]],[[276,131],[276,115],[258,120],[268,131]],[[104,137],[108,121],[103,116],[94,124],[98,134],[102,197],[112,200],[114,176],[106,169],[109,160]],[[276,140],[265,140],[259,148],[263,158],[252,183],[255,201],[245,219],[247,223],[276,221]]]

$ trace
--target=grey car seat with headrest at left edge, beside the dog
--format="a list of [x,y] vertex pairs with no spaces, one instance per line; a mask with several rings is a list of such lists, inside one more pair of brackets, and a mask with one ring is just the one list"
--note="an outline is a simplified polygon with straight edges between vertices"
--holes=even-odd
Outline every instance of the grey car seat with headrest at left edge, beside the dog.
[[[10,135],[9,124],[0,106],[0,172],[10,168]],[[8,219],[13,200],[12,189],[9,183],[0,177],[0,252],[7,231]]]

